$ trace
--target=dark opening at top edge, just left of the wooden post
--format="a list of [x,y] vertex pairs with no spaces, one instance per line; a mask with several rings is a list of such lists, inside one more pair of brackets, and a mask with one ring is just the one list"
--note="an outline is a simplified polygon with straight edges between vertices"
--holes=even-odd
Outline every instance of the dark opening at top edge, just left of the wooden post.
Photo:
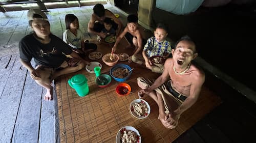
[[127,14],[137,14],[139,0],[115,0],[115,6]]

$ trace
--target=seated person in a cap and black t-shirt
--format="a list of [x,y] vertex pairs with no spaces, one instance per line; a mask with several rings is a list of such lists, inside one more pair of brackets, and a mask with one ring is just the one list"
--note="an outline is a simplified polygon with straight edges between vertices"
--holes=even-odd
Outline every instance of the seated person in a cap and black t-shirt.
[[[90,64],[73,52],[65,42],[51,34],[50,23],[44,12],[39,9],[28,11],[29,25],[34,32],[19,42],[20,63],[25,66],[32,79],[47,90],[45,100],[53,98],[51,82],[54,78],[67,73],[76,72]],[[71,55],[69,59],[66,55]],[[34,58],[36,67],[31,60]]]

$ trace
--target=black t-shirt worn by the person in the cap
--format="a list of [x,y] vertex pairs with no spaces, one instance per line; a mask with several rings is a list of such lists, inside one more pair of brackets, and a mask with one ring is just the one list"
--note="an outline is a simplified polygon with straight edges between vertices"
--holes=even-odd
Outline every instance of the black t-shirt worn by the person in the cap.
[[67,60],[65,54],[71,54],[72,49],[55,35],[51,34],[50,38],[50,43],[42,44],[34,37],[34,34],[25,36],[19,41],[19,58],[27,62],[34,58],[36,65],[59,67]]

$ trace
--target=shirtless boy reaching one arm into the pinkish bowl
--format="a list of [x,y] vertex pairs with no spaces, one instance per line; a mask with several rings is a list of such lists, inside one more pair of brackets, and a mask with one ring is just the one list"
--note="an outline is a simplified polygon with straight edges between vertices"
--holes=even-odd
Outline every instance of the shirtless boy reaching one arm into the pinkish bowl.
[[138,17],[136,15],[132,14],[127,17],[127,26],[118,36],[116,43],[112,48],[113,52],[116,50],[118,43],[124,36],[130,44],[133,44],[135,46],[134,53],[132,56],[129,57],[128,62],[131,63],[133,61],[134,63],[137,63],[139,65],[143,64],[144,61],[142,53],[139,53],[142,49],[142,36],[138,29]]

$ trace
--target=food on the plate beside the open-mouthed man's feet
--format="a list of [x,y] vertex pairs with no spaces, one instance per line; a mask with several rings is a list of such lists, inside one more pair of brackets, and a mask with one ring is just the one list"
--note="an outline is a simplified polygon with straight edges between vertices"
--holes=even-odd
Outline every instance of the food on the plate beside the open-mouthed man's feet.
[[133,113],[135,115],[137,115],[139,117],[147,116],[148,109],[147,109],[146,103],[144,101],[133,104],[133,106],[131,107],[131,110],[133,111]]

